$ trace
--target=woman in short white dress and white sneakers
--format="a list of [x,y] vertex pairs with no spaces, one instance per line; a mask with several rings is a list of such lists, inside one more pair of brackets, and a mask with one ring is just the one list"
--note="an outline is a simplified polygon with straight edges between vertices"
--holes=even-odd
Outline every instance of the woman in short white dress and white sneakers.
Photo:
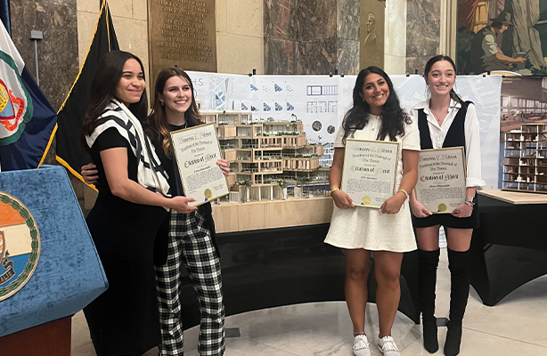
[[[378,348],[385,356],[399,356],[391,328],[401,296],[399,274],[403,253],[416,249],[406,198],[417,180],[420,136],[418,126],[399,104],[393,84],[380,68],[369,67],[357,76],[353,107],[347,111],[334,142],[334,158],[329,182],[334,199],[331,228],[325,242],[344,248],[346,255],[346,301],[354,327],[355,356],[370,356],[364,332],[367,278],[371,252],[378,289],[380,335]],[[355,208],[340,187],[347,138],[399,142],[396,194],[380,209]]]

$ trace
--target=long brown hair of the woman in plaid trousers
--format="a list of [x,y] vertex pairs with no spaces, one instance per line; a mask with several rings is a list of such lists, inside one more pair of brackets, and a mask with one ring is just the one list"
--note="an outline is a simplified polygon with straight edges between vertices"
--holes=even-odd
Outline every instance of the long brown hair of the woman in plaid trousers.
[[190,90],[192,91],[192,103],[190,104],[190,108],[188,108],[184,113],[184,118],[188,123],[188,127],[203,124],[203,120],[201,119],[200,112],[198,111],[198,105],[196,104],[196,99],[193,93],[192,79],[183,69],[162,69],[159,72],[158,79],[156,79],[156,90],[154,91],[153,99],[154,104],[152,105],[152,112],[149,119],[151,121],[151,125],[154,125],[156,128],[156,134],[158,134],[159,142],[161,142],[161,147],[165,151],[167,157],[171,157],[171,142],[169,142],[169,132],[171,129],[167,123],[165,107],[163,107],[159,101],[159,94],[163,93],[165,84],[170,77],[183,77],[188,82],[188,85],[190,85]]

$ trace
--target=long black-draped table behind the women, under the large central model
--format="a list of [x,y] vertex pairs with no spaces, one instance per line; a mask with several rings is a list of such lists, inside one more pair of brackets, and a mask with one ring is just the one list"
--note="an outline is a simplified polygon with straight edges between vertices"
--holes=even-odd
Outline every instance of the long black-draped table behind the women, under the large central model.
[[[323,243],[329,223],[216,235],[222,266],[225,314],[230,316],[296,303],[344,301],[345,258]],[[375,302],[373,265],[369,302]],[[200,323],[192,284],[183,276],[184,328]],[[404,254],[399,311],[420,322],[418,255]]]

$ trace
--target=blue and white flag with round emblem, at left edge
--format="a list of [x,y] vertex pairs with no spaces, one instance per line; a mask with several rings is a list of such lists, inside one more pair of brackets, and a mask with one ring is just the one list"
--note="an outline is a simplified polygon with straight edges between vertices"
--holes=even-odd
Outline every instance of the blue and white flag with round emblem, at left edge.
[[55,134],[55,111],[0,26],[0,170],[37,168]]

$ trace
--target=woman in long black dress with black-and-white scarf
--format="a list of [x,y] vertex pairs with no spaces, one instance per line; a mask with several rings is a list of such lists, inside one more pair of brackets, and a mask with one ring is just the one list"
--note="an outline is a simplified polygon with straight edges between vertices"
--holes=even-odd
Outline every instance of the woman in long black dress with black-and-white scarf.
[[193,201],[167,198],[167,176],[144,134],[144,87],[143,64],[135,55],[106,53],[82,127],[101,186],[86,221],[109,281],[108,290],[84,309],[99,356],[137,356],[160,343],[155,238],[168,208],[185,213]]

